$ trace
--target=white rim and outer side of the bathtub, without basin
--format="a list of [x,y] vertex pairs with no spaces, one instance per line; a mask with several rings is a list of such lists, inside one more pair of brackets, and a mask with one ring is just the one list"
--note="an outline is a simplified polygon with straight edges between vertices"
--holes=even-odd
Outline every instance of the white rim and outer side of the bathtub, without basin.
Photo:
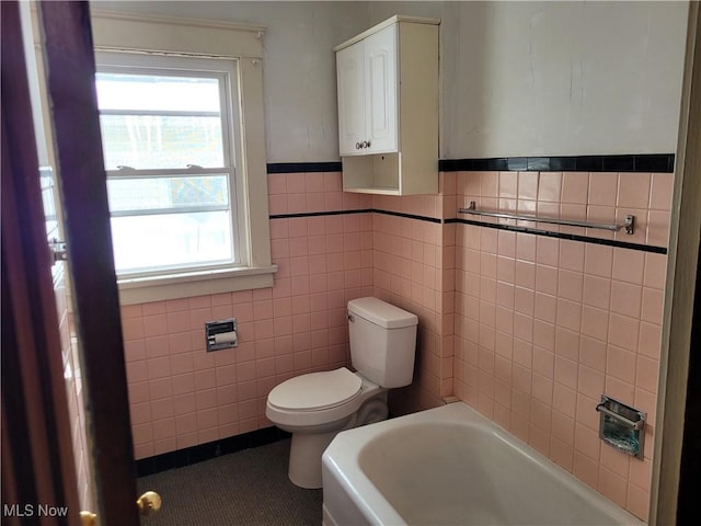
[[[405,524],[405,519],[393,508],[365,473],[359,458],[363,449],[386,431],[410,427],[417,423],[449,423],[486,427],[487,432],[494,433],[509,446],[522,451],[556,480],[572,487],[574,491],[579,492],[584,498],[600,503],[601,510],[620,524],[631,526],[643,526],[645,524],[466,402],[458,401],[377,424],[344,431],[336,435],[322,457],[324,525],[331,526],[346,523],[346,521],[337,521],[336,518],[336,515],[347,515],[345,512],[348,512],[348,510],[343,510],[335,502],[343,496],[348,499],[350,504],[355,506],[355,512],[357,513],[354,516],[354,523],[357,523],[361,517],[367,524]],[[360,488],[363,488],[363,494],[360,493]]]

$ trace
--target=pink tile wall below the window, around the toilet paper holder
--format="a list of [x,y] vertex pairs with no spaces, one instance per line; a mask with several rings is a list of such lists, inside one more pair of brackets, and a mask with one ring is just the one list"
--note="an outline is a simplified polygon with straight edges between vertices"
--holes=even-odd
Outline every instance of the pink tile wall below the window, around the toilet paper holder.
[[[271,174],[271,214],[366,209],[340,173]],[[137,458],[272,425],[269,390],[348,365],[345,308],[372,294],[371,214],[271,220],[272,288],[122,309]],[[240,344],[205,352],[204,323],[235,317]]]

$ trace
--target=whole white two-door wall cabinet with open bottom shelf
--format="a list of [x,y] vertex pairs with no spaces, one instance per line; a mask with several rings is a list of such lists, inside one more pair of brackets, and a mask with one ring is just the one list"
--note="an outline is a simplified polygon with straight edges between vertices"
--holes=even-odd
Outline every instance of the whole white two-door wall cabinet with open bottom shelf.
[[336,46],[346,192],[438,192],[438,24],[392,16]]

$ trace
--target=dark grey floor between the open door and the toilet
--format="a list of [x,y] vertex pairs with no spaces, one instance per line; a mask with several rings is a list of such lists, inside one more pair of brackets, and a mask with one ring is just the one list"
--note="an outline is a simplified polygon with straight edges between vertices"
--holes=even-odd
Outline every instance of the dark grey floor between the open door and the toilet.
[[289,439],[141,477],[163,499],[142,526],[320,525],[321,490],[287,478]]

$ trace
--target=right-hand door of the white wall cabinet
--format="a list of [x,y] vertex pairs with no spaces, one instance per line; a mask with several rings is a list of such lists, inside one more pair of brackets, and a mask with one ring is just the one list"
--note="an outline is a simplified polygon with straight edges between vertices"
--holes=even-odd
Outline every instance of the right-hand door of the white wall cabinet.
[[365,39],[366,153],[398,149],[397,25]]

